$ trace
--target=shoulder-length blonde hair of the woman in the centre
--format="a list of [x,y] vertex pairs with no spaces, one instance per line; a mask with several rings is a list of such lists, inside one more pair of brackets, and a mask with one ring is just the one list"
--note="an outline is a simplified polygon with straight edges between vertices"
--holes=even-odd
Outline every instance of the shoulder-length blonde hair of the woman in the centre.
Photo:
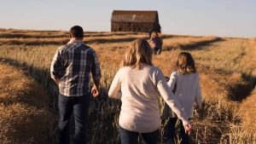
[[126,51],[125,60],[123,60],[121,66],[131,66],[140,69],[143,63],[152,66],[152,49],[148,41],[136,39]]

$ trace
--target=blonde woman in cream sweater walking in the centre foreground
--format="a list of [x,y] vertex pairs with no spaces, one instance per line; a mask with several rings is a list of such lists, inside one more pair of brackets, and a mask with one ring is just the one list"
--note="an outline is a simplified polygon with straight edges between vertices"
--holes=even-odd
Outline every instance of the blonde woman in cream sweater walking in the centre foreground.
[[168,106],[182,119],[186,132],[189,119],[168,88],[163,72],[152,65],[152,50],[146,40],[137,39],[126,51],[122,67],[108,91],[111,98],[121,99],[119,134],[122,144],[136,144],[141,134],[144,143],[156,144],[159,138],[159,93]]

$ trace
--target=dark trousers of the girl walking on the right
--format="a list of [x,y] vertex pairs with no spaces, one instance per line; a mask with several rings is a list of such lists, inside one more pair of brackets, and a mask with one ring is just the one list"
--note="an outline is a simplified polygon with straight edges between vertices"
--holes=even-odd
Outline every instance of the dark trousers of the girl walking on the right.
[[[175,125],[177,123],[177,120],[179,120],[179,134],[181,137],[181,144],[188,144],[189,143],[189,135],[185,133],[184,126],[182,120],[178,118],[169,118],[169,121],[167,122],[167,138],[168,140],[171,140],[174,143],[175,139]],[[190,120],[190,118],[189,118]]]

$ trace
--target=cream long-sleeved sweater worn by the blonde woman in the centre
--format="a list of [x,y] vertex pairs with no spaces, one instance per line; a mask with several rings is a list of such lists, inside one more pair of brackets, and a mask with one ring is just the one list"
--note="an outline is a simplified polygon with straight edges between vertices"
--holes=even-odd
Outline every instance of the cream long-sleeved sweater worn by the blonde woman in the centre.
[[143,65],[140,70],[131,66],[120,68],[113,78],[108,95],[122,101],[119,125],[125,130],[141,133],[158,130],[158,91],[172,111],[177,113],[177,117],[183,120],[183,124],[189,124],[172,90],[166,84],[163,72],[155,66]]

